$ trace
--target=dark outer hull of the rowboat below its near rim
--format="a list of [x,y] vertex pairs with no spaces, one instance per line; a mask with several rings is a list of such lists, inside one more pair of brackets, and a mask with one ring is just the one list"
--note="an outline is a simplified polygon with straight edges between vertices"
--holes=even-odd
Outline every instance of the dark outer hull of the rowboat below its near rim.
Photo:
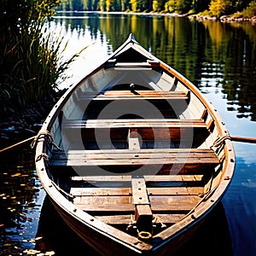
[[[176,255],[180,252],[183,247],[186,247],[186,244],[193,240],[197,236],[198,230],[201,230],[209,218],[211,218],[210,212],[205,212],[205,215],[201,216],[200,219],[197,219],[195,223],[187,227],[186,230],[181,230],[177,236],[172,237],[169,241],[166,241],[164,244],[160,243],[159,247],[155,247],[152,251],[135,251],[129,247],[125,247],[124,244],[119,243],[119,241],[113,241],[112,238],[102,235],[96,230],[90,229],[90,227],[81,224],[81,222],[73,218],[67,211],[63,210],[55,201],[50,200],[52,205],[55,207],[56,212],[59,213],[61,219],[67,224],[67,226],[73,230],[73,232],[79,236],[86,244],[92,247],[100,255]],[[218,205],[218,204],[217,204]],[[219,216],[217,222],[219,221]],[[211,219],[212,221],[212,219]],[[216,224],[217,225],[217,224]],[[211,230],[205,230],[204,233],[211,233]],[[215,234],[215,233],[214,233]],[[211,236],[211,235],[210,235]],[[215,234],[219,236],[219,234]],[[196,238],[195,238],[196,239]]]

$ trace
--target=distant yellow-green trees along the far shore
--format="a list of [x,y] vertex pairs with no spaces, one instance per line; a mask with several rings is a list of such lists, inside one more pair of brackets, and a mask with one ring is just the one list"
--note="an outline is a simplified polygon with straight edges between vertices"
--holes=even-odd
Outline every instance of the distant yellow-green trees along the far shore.
[[132,11],[162,12],[220,16],[253,9],[249,15],[256,15],[255,0],[62,0],[57,10],[62,11]]

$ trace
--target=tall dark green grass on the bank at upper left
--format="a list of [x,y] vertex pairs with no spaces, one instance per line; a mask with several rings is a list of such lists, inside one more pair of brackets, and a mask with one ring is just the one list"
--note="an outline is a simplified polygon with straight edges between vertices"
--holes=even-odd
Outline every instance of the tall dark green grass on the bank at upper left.
[[[10,20],[9,27],[0,29],[3,35],[0,38],[1,117],[53,97],[57,81],[77,56],[61,61],[62,38],[53,40],[49,33],[45,36],[44,23],[54,14],[52,8],[60,3],[59,0],[15,1],[23,4],[23,8],[26,4],[26,9],[17,9],[18,14],[13,13],[15,9],[11,14],[0,12],[2,16],[4,13],[16,19],[15,26]],[[8,4],[14,4],[12,2],[6,1],[7,10]]]

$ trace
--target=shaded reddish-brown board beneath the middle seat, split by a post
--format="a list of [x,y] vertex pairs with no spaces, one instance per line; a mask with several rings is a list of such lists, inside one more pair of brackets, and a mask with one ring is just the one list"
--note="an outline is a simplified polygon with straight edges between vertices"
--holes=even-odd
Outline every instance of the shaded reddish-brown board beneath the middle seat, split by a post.
[[[101,148],[102,144],[106,144],[106,147],[111,148],[109,141],[111,140],[113,143],[121,143],[120,148],[125,148],[125,143],[127,143],[128,131],[129,128],[76,128],[73,131],[68,130],[63,131],[66,137],[70,141],[73,140],[73,137],[79,137],[79,142],[81,138],[83,140],[84,145],[86,143],[95,143],[95,146]],[[137,129],[137,133],[139,134],[139,142],[142,143],[153,143],[151,148],[170,148],[171,143],[188,143],[188,147],[191,143],[201,142],[208,136],[208,131],[206,128],[193,128],[193,127],[166,127],[166,128],[134,128]],[[198,136],[200,136],[200,140],[197,140]],[[129,143],[129,142],[128,142]],[[158,143],[166,143],[163,147],[156,147]],[[202,143],[202,142],[201,142]],[[121,146],[123,145],[123,147]],[[126,145],[127,146],[127,145]]]

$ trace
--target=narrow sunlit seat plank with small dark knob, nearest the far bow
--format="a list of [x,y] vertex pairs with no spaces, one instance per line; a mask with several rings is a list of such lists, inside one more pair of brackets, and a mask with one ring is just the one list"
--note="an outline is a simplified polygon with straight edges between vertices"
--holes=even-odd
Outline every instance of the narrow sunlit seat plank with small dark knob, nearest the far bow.
[[81,92],[79,100],[88,101],[129,101],[129,100],[188,100],[189,90],[186,91],[163,91],[163,90],[108,90],[105,92]]

